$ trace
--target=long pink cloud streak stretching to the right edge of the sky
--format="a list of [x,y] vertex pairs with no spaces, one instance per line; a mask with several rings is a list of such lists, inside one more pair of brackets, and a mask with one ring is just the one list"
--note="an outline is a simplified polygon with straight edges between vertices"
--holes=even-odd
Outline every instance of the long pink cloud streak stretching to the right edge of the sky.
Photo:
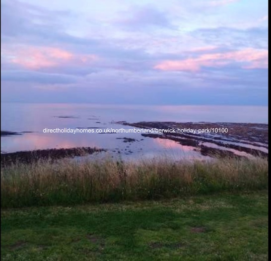
[[247,48],[227,53],[203,54],[196,58],[184,60],[166,60],[154,66],[162,71],[196,72],[201,67],[220,67],[234,62],[241,62],[242,68],[268,68],[268,50]]

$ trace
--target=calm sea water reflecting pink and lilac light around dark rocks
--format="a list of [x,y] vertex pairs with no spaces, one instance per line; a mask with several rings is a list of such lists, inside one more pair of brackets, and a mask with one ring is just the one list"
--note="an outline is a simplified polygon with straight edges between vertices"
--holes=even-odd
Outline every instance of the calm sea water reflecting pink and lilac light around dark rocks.
[[[73,118],[59,118],[71,116]],[[123,157],[158,155],[203,157],[174,141],[144,138],[138,133],[43,133],[55,128],[132,128],[112,121],[251,122],[268,123],[267,106],[143,106],[67,103],[1,103],[1,130],[31,133],[1,137],[1,152],[49,148],[99,147],[120,150]],[[132,144],[117,138],[136,138]],[[133,151],[133,153],[129,153]]]

